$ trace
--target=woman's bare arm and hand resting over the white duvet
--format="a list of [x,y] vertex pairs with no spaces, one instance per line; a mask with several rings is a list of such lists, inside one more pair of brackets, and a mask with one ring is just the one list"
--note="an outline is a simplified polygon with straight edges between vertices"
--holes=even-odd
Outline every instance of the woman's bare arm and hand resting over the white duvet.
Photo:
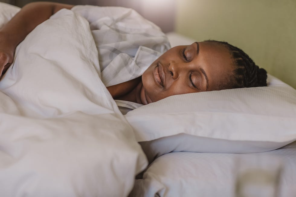
[[11,63],[16,46],[40,23],[49,19],[60,9],[71,9],[73,5],[34,2],[25,5],[5,26],[0,29],[0,75]]

